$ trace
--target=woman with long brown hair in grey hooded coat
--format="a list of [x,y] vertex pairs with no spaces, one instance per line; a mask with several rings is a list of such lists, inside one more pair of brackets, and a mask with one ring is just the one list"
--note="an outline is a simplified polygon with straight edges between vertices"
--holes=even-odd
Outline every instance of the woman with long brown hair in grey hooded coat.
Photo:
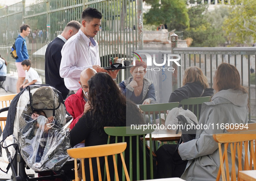
[[220,158],[218,144],[212,135],[227,132],[220,128],[221,124],[247,123],[248,94],[241,86],[236,67],[220,64],[214,75],[213,88],[217,93],[211,102],[202,105],[199,120],[200,125],[210,126],[197,130],[196,139],[178,147],[181,159],[188,160],[185,172],[181,175],[186,181],[215,181]]

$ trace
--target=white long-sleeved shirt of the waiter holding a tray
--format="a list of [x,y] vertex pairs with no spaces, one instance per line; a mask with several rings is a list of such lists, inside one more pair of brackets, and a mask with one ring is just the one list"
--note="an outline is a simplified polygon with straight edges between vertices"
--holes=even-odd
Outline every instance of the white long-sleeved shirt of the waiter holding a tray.
[[98,43],[95,46],[91,40],[79,30],[77,34],[68,39],[62,47],[62,60],[60,76],[64,78],[65,86],[69,90],[78,90],[80,74],[84,69],[100,66]]

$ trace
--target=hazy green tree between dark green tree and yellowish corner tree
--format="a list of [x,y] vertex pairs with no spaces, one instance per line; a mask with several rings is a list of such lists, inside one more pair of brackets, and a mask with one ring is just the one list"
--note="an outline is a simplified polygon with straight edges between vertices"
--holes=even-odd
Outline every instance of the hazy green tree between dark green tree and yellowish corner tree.
[[190,27],[184,31],[184,37],[191,37],[191,47],[217,47],[225,43],[224,32],[221,28],[224,21],[225,9],[216,8],[207,11],[207,5],[192,6],[188,9]]

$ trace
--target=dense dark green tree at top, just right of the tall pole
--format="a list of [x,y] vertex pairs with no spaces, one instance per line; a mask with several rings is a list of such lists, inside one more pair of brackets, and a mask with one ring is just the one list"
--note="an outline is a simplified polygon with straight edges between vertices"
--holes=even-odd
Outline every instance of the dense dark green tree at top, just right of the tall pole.
[[189,27],[186,0],[147,0],[151,9],[144,13],[146,24],[166,24],[169,30]]

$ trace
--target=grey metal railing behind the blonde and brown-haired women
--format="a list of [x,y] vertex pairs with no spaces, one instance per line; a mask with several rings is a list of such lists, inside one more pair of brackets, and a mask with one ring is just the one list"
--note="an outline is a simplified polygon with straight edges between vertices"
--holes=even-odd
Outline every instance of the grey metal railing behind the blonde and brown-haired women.
[[241,84],[248,87],[250,100],[249,120],[256,119],[256,74],[251,74],[250,72],[251,68],[256,70],[256,47],[174,48],[173,53],[181,56],[181,66],[178,68],[180,87],[182,75],[187,67],[200,67],[212,87],[213,75],[220,63],[227,62],[236,66],[241,76]]

